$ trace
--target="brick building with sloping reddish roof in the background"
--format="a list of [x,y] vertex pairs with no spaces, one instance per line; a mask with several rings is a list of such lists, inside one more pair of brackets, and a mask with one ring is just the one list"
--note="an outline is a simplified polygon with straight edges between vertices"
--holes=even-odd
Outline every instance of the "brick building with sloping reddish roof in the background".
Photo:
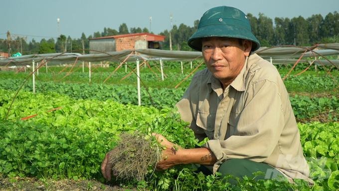
[[[162,49],[165,36],[144,33],[120,34],[89,39],[89,49],[102,52],[114,52],[128,49]],[[90,54],[99,54],[90,51]]]

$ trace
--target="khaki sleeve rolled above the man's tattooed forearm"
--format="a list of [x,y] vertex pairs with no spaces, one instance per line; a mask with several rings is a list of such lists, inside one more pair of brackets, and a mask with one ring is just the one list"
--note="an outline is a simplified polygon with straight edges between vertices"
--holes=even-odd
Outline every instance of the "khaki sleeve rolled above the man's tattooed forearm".
[[275,82],[262,80],[245,91],[244,108],[239,111],[234,133],[226,140],[209,140],[202,147],[217,158],[214,173],[228,159],[265,161],[278,144],[284,128],[281,95]]

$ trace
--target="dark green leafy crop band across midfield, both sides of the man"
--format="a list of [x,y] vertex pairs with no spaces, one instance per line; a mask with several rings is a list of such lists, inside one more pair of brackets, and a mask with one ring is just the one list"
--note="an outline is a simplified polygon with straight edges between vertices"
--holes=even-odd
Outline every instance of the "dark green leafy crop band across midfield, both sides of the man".
[[[0,78],[0,89],[17,91],[22,83],[23,80]],[[138,105],[138,90],[133,85],[53,82],[42,82],[42,85],[44,89],[39,83],[36,84],[36,92],[44,92],[43,90],[46,90],[48,92],[67,95],[72,99],[113,100],[122,104]],[[22,89],[24,91],[32,91],[32,83],[27,82]],[[155,106],[158,109],[171,108],[181,99],[184,90],[184,88],[149,88],[147,91],[145,88],[142,88],[141,104],[142,106]],[[324,121],[338,120],[339,100],[335,96],[332,96],[332,98],[310,98],[296,95],[290,97],[290,100],[297,119],[308,120],[326,112]]]

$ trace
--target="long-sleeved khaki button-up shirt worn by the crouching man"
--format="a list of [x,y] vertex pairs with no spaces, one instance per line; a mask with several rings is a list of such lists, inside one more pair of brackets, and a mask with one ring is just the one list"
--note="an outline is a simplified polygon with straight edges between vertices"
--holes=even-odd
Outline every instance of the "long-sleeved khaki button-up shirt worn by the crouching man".
[[291,183],[314,183],[285,85],[257,54],[251,52],[224,92],[207,68],[196,72],[176,107],[197,139],[208,137],[202,147],[217,158],[213,173],[228,159],[247,159],[275,167]]

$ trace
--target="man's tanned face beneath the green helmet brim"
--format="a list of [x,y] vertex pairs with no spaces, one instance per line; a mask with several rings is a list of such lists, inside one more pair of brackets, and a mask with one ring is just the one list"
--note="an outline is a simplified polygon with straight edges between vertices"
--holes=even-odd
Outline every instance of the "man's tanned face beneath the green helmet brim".
[[240,73],[252,42],[237,38],[210,37],[202,39],[202,56],[213,76],[229,85]]

